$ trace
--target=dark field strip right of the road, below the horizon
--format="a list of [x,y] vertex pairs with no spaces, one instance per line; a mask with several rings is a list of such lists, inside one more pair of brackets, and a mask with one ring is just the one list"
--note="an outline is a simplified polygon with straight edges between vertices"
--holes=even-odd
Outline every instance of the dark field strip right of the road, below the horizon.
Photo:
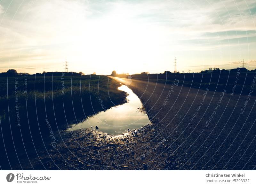
[[[128,78],[128,75],[116,75],[117,77]],[[157,83],[172,84],[175,79],[179,80],[179,85],[186,87],[220,91],[226,89],[231,92],[235,86],[236,93],[248,94],[251,89],[255,71],[247,73],[167,73],[167,74],[133,74],[132,79],[151,81]]]

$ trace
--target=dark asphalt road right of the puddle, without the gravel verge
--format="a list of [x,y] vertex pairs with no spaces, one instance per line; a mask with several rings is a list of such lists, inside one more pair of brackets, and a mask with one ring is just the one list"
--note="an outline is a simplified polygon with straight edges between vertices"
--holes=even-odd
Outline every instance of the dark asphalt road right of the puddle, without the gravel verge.
[[140,97],[154,136],[168,140],[155,169],[255,168],[255,90],[248,96],[184,87],[179,80],[114,79]]

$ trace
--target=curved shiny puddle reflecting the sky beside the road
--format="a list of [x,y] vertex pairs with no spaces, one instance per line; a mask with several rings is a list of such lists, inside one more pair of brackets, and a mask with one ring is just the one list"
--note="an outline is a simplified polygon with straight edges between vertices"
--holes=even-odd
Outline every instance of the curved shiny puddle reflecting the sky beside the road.
[[141,113],[142,104],[139,97],[136,96],[127,86],[118,87],[128,93],[128,102],[100,112],[92,117],[88,117],[85,121],[74,124],[69,130],[77,130],[80,128],[98,127],[99,131],[109,134],[119,134],[127,131],[127,129],[140,128],[149,123],[147,114]]

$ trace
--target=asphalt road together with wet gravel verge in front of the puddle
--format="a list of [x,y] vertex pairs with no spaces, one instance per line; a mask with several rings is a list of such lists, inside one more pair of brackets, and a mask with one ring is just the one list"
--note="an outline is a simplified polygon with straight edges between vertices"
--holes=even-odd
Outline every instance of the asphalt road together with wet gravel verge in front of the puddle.
[[49,145],[39,158],[29,155],[31,164],[24,155],[21,164],[43,170],[255,169],[254,94],[241,114],[246,95],[221,97],[221,92],[175,83],[129,84],[152,124],[118,136],[91,129],[61,133],[56,148]]

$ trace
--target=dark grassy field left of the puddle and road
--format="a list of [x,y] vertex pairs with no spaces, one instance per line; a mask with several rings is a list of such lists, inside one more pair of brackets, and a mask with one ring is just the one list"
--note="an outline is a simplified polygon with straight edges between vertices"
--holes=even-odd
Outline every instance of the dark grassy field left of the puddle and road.
[[1,147],[13,149],[8,141],[15,142],[15,149],[24,148],[22,141],[32,147],[68,124],[103,111],[103,105],[108,109],[124,103],[126,93],[119,86],[98,75],[0,77]]

